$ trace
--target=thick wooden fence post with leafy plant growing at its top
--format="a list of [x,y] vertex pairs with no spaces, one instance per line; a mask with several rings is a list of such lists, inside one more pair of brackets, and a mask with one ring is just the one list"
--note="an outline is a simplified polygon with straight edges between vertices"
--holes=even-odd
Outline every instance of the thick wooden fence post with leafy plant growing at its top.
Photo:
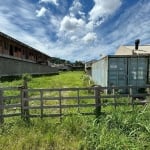
[[27,80],[24,79],[24,86],[21,90],[21,114],[25,121],[29,121],[29,101],[28,101],[28,85]]

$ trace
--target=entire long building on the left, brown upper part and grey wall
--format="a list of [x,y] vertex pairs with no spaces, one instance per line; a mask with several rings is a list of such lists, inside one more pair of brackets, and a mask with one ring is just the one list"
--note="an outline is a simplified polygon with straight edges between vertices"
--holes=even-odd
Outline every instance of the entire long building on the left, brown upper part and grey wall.
[[48,66],[51,57],[0,32],[0,77],[58,73]]

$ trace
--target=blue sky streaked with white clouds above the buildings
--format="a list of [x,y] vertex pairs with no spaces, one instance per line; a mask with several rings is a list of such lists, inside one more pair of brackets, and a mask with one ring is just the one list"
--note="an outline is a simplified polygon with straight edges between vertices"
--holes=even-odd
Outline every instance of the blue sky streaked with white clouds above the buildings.
[[1,0],[0,32],[52,57],[99,59],[150,44],[150,0]]

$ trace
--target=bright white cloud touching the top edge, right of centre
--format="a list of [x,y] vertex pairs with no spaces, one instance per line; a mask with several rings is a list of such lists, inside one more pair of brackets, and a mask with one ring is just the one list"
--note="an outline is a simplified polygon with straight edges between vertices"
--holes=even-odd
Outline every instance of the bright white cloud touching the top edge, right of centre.
[[99,26],[104,18],[113,14],[120,6],[121,0],[94,0],[95,5],[89,12],[89,20]]

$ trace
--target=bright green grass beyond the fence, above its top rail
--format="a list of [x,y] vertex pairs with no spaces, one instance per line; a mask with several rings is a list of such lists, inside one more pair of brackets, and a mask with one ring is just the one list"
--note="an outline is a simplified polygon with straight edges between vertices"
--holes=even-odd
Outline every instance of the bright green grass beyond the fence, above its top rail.
[[[57,88],[57,87],[82,87],[83,72],[72,71],[62,72],[59,75],[33,77],[29,82],[29,88]],[[21,86],[22,80],[14,80],[12,82],[1,82],[1,87]]]

